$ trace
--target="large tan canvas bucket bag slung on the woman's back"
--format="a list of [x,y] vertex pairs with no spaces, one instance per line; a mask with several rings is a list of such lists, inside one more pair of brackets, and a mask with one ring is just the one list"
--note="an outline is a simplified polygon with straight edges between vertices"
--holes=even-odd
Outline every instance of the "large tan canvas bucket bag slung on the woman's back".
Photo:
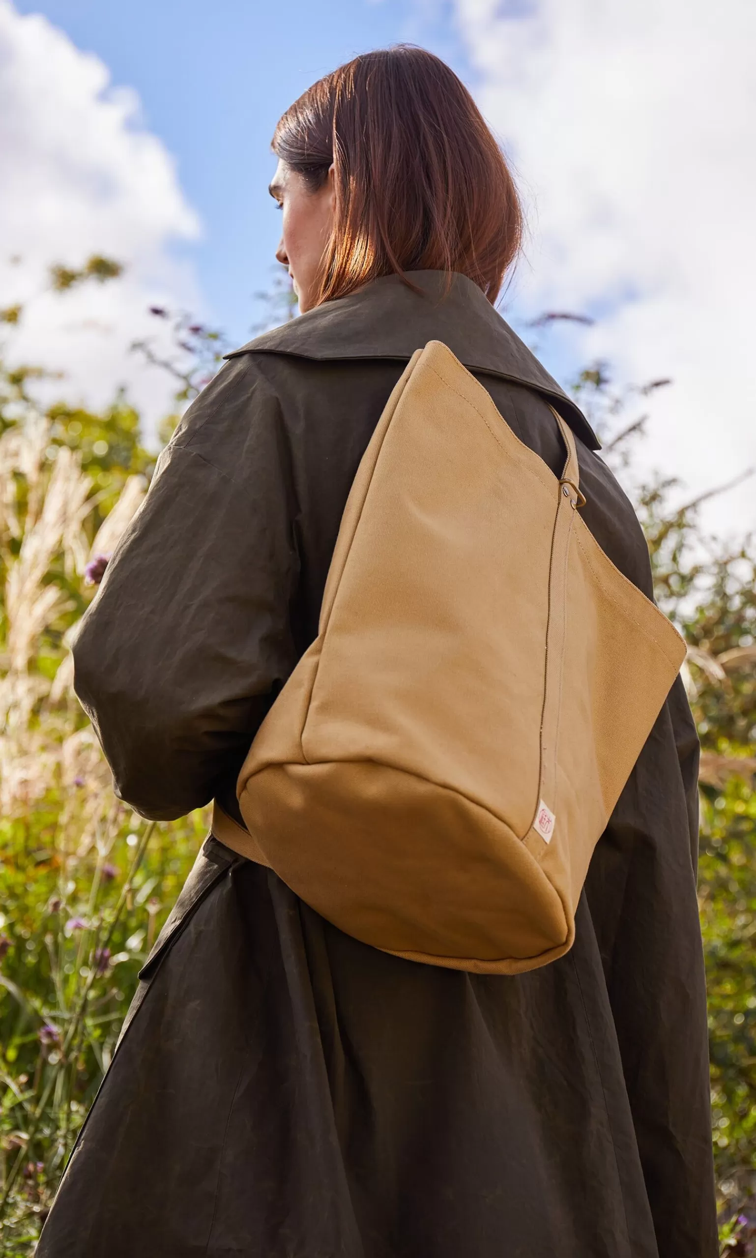
[[439,341],[399,380],[355,478],[320,633],[238,781],[270,866],[348,935],[517,974],[561,956],[594,847],[684,644],[561,479]]

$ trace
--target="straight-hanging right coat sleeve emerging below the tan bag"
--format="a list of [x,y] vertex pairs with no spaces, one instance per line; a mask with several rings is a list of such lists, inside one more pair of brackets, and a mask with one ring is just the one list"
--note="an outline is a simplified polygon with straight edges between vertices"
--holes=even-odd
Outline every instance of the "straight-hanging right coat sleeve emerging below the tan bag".
[[697,769],[678,677],[586,882],[659,1254],[675,1258],[718,1253]]

